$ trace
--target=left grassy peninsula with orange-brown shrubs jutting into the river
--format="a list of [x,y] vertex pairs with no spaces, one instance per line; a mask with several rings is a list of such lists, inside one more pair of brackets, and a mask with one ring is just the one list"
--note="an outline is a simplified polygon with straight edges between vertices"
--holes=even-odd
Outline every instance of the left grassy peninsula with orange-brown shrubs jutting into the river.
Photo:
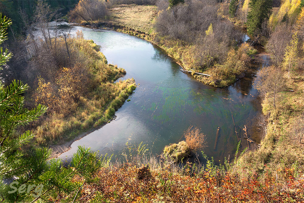
[[74,54],[85,60],[75,67],[60,68],[55,78],[57,84],[38,77],[36,89],[28,95],[35,103],[49,107],[48,113],[30,128],[36,134],[32,147],[50,146],[52,157],[67,151],[71,143],[88,132],[110,122],[136,88],[134,79],[118,81],[126,71],[108,64],[97,44],[84,40],[81,32],[77,34],[71,46]]

